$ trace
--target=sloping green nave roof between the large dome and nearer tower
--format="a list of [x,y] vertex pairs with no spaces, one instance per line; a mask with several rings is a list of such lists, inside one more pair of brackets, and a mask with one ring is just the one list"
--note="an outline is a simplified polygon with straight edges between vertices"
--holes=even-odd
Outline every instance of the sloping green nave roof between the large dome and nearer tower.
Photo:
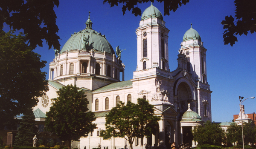
[[117,88],[128,87],[128,86],[132,86],[131,80],[111,83],[111,84],[103,86],[99,89],[95,89],[93,92],[104,91],[104,90],[109,90],[109,89],[117,89]]

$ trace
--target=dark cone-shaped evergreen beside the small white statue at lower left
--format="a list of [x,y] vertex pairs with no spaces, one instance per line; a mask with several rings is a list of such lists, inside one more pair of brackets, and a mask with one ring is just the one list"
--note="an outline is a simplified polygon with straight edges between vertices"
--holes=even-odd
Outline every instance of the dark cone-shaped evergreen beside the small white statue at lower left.
[[20,127],[15,136],[15,146],[33,146],[33,138],[37,134],[38,128],[35,126],[35,115],[32,109],[24,113],[21,118]]

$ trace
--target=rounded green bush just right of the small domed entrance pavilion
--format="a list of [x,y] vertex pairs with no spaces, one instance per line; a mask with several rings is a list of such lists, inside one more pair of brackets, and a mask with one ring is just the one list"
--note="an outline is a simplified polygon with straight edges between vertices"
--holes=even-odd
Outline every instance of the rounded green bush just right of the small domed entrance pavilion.
[[224,140],[224,132],[217,123],[211,123],[207,120],[204,126],[194,127],[192,130],[193,139],[198,144],[221,145]]

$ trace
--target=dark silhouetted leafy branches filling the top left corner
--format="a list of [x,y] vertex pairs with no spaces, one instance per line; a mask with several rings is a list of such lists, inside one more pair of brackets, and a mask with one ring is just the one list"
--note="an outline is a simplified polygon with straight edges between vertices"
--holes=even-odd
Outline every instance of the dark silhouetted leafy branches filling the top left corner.
[[46,40],[49,49],[52,46],[60,49],[57,17],[53,10],[58,5],[59,0],[1,0],[0,29],[3,23],[15,30],[23,29],[32,49],[43,46],[42,39]]

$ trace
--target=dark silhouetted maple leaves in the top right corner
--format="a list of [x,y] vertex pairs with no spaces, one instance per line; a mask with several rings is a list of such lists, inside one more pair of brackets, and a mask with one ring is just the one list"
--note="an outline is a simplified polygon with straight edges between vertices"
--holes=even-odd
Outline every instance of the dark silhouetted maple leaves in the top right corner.
[[237,40],[236,35],[247,35],[248,32],[256,32],[256,1],[255,0],[235,0],[236,12],[235,18],[226,16],[223,24],[224,44],[233,46]]

